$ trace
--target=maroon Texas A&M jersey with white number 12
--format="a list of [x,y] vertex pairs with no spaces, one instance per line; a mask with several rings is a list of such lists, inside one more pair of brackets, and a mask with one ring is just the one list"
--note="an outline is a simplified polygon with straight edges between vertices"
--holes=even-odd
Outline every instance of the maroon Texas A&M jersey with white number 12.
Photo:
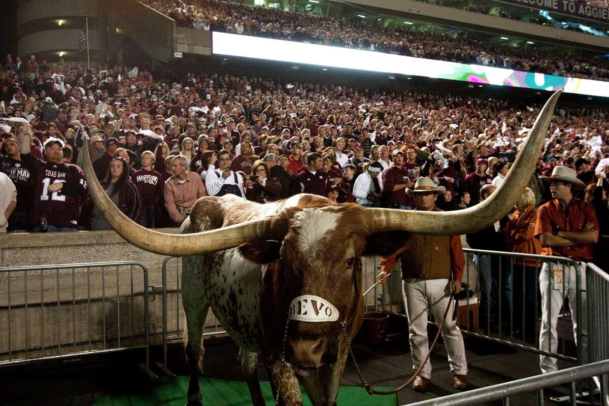
[[[21,155],[21,160],[35,168],[30,224],[39,226],[44,216],[48,225],[76,228],[79,205],[87,194],[82,169],[74,164],[43,162],[31,154]],[[63,183],[63,187],[58,192],[49,193],[48,187],[54,183]]]

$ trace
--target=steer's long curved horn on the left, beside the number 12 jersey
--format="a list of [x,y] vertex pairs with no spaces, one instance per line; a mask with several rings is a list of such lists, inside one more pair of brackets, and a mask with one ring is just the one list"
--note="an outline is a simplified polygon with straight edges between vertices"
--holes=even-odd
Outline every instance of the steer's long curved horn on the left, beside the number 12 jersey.
[[108,224],[136,247],[161,255],[186,256],[270,238],[272,217],[193,234],[166,234],[144,228],[124,215],[105,194],[91,165],[88,140],[83,142],[83,154],[83,169],[93,202]]

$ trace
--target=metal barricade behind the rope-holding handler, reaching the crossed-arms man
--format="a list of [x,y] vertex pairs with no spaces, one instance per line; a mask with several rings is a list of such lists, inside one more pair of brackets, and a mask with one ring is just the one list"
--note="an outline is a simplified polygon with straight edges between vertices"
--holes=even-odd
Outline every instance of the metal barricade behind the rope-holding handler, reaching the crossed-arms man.
[[[467,334],[484,338],[490,341],[536,352],[541,355],[548,355],[555,359],[577,363],[583,360],[582,346],[582,324],[577,324],[577,346],[571,347],[570,338],[572,337],[571,317],[565,312],[560,314],[557,338],[552,338],[548,331],[547,348],[552,347],[552,343],[560,343],[556,351],[543,351],[539,347],[540,325],[538,319],[541,316],[541,293],[539,289],[539,276],[543,262],[551,261],[558,264],[558,270],[563,275],[569,267],[575,268],[576,273],[576,297],[569,298],[571,306],[577,309],[577,320],[582,320],[586,313],[582,313],[582,295],[585,298],[585,289],[582,282],[582,268],[579,262],[564,257],[552,257],[542,255],[518,254],[504,251],[484,251],[464,249],[465,270],[463,271],[463,282],[470,284],[470,289],[474,290],[472,297],[461,299],[458,309],[460,316],[459,327]],[[474,261],[476,256],[476,261]],[[480,261],[482,259],[482,261]],[[535,266],[527,266],[526,261],[535,263]],[[372,262],[372,261],[371,261]],[[516,265],[519,262],[519,265]],[[367,289],[376,280],[380,270],[379,259],[374,259],[374,266],[364,267],[364,286]],[[490,279],[493,292],[490,300],[483,295],[484,289],[478,287],[481,278]],[[484,268],[486,267],[486,268]],[[403,298],[401,293],[401,264],[398,263],[392,270],[392,278],[389,278],[383,285],[378,285],[371,291],[366,300],[367,311],[385,311],[400,317],[405,317]],[[514,290],[512,289],[515,287]],[[544,286],[547,293],[554,289],[552,278],[548,278],[547,285]],[[533,290],[533,292],[531,292]],[[566,283],[562,284],[561,295],[565,297],[568,289]],[[374,292],[374,293],[372,293]],[[498,295],[495,295],[498,292]],[[605,296],[606,297],[606,296]],[[606,301],[603,303],[607,303]],[[576,306],[573,306],[576,305]],[[559,310],[559,309],[555,309]],[[547,313],[552,312],[552,301],[547,301]],[[480,317],[483,315],[484,317]],[[483,320],[481,320],[483,319]],[[430,319],[431,320],[431,319]],[[527,321],[529,324],[527,324]],[[431,322],[431,321],[430,321]],[[435,324],[435,323],[432,323]],[[607,324],[605,324],[607,325]],[[527,331],[528,329],[528,331]],[[581,362],[580,362],[581,363]]]

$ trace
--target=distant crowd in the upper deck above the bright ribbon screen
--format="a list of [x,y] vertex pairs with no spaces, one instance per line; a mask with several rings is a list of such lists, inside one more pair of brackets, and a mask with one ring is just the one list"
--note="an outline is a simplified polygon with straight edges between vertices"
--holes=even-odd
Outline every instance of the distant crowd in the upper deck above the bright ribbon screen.
[[235,2],[147,0],[144,3],[171,16],[181,27],[609,80],[609,62],[600,55],[598,58],[577,57],[531,47],[522,49],[509,44],[482,43],[444,33],[420,32],[409,27],[373,26],[359,20],[342,21]]

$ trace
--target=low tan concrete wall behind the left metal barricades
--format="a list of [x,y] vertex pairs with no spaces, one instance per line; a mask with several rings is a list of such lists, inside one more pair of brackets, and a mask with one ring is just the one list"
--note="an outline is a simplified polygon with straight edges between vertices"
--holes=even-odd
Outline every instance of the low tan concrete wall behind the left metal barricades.
[[[177,229],[161,231],[175,233]],[[148,284],[160,286],[164,258],[133,247],[114,231],[0,236],[1,267],[138,261],[148,269]],[[176,293],[176,261],[171,264],[173,266],[167,272],[167,326],[170,331],[181,329],[184,320]],[[121,347],[144,342],[145,286],[141,268],[35,270],[27,272],[27,280],[25,274],[18,271],[9,276],[7,272],[0,272],[0,362],[8,359],[9,317],[13,359],[24,357],[26,342],[29,357],[41,354],[37,351],[41,342],[46,347],[45,355],[86,351],[89,340],[93,349],[117,348],[119,331]],[[151,294],[148,303],[149,323],[161,324],[161,295],[153,297]],[[215,319],[210,312],[206,324],[213,323]],[[152,326],[149,331],[153,333]],[[151,335],[150,342],[161,342],[158,331]]]

